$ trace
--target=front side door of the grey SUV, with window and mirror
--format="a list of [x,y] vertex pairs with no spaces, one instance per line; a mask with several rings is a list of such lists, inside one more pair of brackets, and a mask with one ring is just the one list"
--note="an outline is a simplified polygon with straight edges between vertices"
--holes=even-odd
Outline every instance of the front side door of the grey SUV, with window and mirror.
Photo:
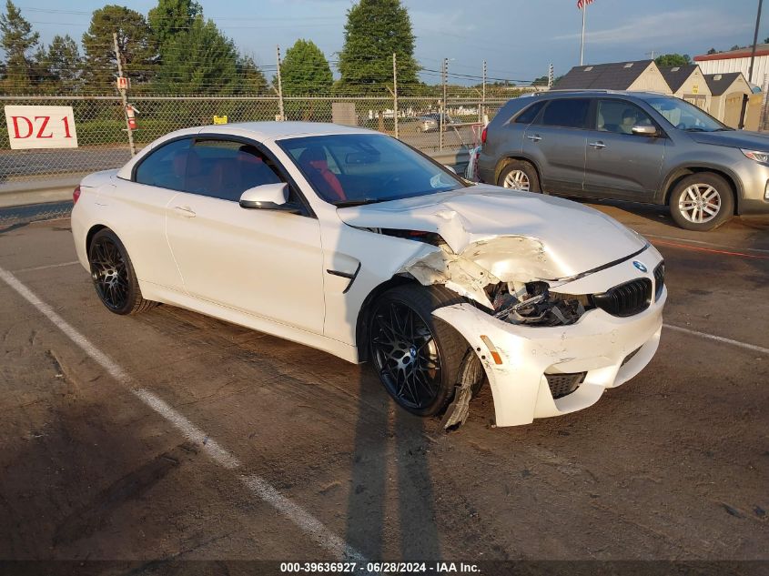
[[[658,136],[632,133],[654,126]],[[597,101],[596,124],[585,152],[585,195],[652,200],[662,177],[667,138],[640,106],[618,98]]]

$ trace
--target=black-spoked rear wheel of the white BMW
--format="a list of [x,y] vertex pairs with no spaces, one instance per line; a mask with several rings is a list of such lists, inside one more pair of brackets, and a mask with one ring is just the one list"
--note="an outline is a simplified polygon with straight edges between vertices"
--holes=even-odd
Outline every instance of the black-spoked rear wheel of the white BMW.
[[126,247],[109,228],[99,230],[91,239],[88,263],[96,294],[110,312],[136,314],[157,304],[142,298]]

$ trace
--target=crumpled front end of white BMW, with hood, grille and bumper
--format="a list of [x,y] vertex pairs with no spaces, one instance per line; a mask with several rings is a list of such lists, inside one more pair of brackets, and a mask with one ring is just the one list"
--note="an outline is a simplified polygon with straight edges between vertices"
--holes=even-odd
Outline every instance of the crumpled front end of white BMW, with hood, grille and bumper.
[[590,406],[657,349],[662,256],[592,208],[481,186],[338,214],[349,226],[422,245],[391,245],[409,256],[388,274],[466,300],[432,310],[474,354],[457,377],[446,428],[467,417],[479,363],[495,424],[514,426]]

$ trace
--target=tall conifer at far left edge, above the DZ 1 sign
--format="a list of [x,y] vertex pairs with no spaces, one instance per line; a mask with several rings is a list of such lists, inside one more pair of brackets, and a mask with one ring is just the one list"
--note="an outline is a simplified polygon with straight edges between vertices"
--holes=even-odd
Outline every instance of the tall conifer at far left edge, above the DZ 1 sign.
[[0,15],[0,47],[5,50],[5,85],[14,88],[31,86],[35,61],[29,51],[35,48],[40,35],[32,31],[11,0],[5,2],[5,14]]

